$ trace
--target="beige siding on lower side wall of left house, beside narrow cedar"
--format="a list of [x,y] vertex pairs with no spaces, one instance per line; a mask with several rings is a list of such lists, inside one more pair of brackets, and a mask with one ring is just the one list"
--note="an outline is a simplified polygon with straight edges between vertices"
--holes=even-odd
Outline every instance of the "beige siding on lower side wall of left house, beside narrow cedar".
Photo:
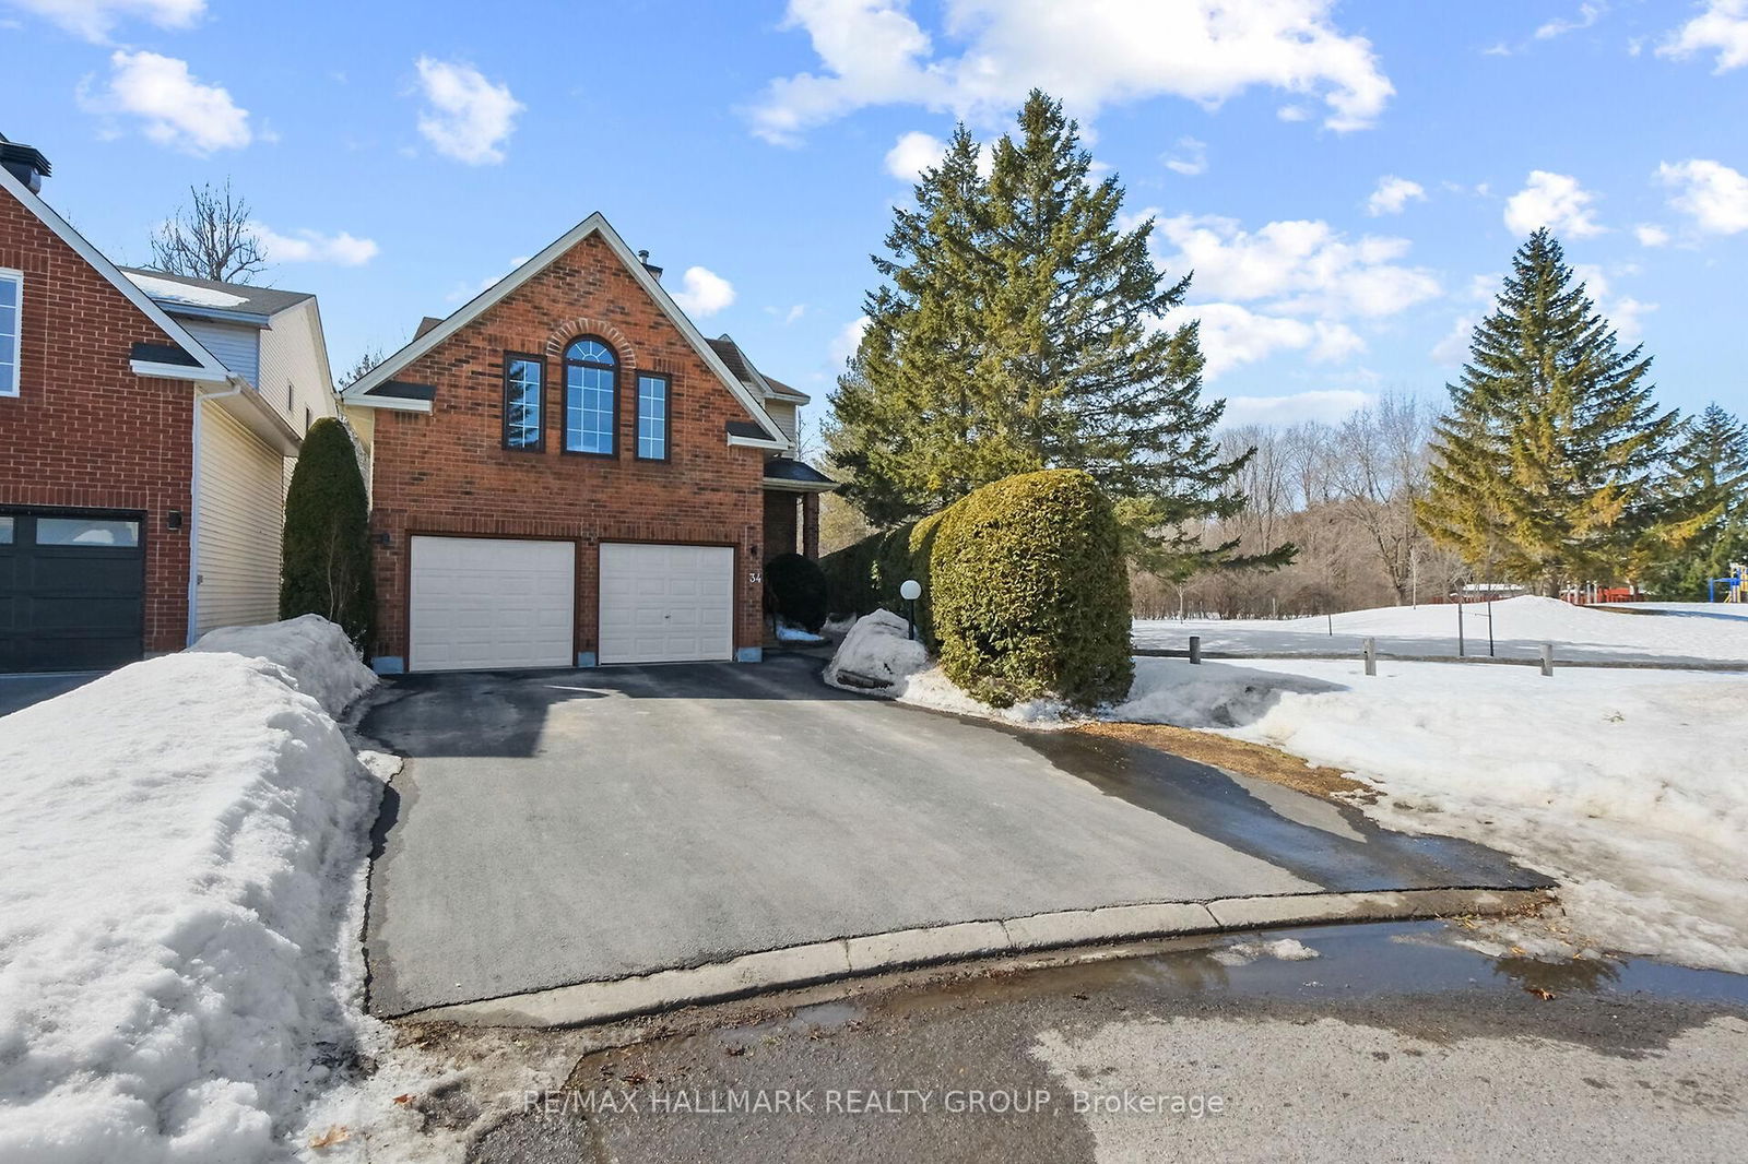
[[201,404],[196,629],[280,617],[285,460],[215,404]]

